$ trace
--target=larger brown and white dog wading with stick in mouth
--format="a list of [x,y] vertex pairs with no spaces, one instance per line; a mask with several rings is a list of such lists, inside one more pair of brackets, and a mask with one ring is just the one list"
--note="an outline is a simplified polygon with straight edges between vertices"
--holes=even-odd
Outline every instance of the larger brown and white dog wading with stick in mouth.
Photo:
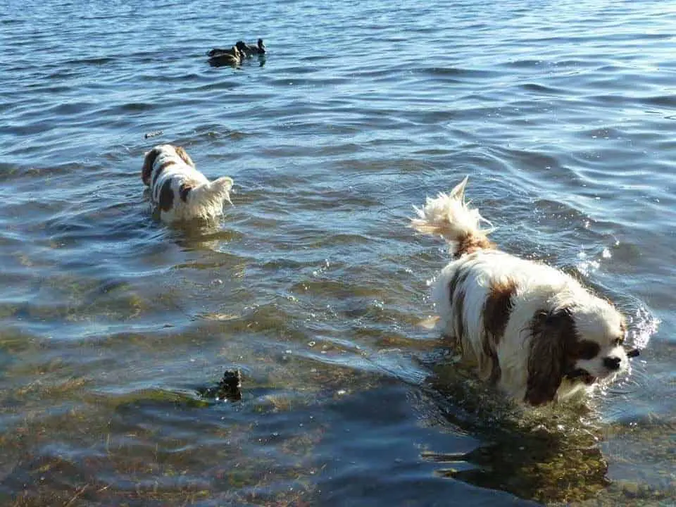
[[480,377],[531,405],[557,401],[628,367],[614,306],[543,263],[499,251],[465,202],[467,177],[427,199],[411,227],[449,243],[455,259],[432,283],[437,327],[457,340]]

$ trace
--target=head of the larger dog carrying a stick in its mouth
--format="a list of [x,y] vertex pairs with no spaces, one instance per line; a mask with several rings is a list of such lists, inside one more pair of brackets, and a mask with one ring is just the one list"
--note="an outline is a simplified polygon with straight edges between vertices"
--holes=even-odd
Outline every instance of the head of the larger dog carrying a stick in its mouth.
[[587,385],[627,369],[622,315],[601,299],[536,313],[532,319],[525,401],[552,401],[564,378]]

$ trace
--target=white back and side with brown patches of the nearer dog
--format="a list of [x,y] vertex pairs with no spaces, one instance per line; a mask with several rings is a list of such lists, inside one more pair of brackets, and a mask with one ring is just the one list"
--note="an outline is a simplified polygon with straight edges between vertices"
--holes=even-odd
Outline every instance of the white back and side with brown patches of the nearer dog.
[[555,312],[563,294],[589,297],[565,273],[494,249],[461,256],[432,284],[442,332],[458,340],[482,379],[516,398],[527,384],[533,316]]

